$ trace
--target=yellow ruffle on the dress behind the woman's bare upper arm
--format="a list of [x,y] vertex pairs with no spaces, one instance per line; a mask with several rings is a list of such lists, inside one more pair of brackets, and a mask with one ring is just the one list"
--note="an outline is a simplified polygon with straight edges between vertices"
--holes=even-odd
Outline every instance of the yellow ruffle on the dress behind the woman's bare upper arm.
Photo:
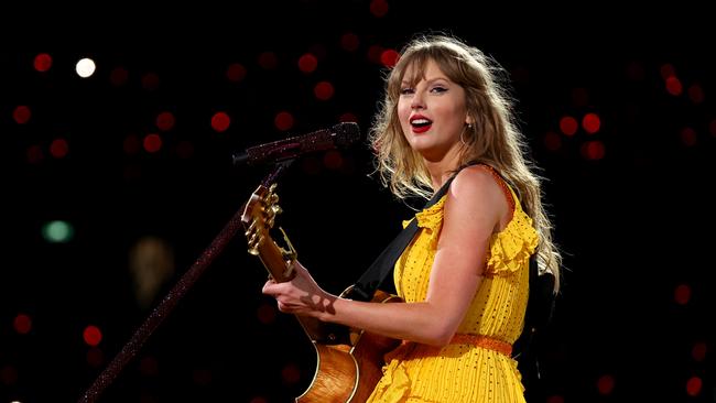
[[490,240],[487,272],[493,274],[517,272],[534,253],[539,240],[536,230],[532,227],[532,218],[522,209],[516,209],[507,227],[493,235]]

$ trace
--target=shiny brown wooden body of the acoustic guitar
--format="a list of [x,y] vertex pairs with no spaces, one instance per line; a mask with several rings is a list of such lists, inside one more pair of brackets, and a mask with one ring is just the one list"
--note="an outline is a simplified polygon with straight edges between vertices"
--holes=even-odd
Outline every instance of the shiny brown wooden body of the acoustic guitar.
[[[378,291],[373,303],[400,302],[398,296]],[[382,377],[383,356],[400,340],[357,330],[351,341],[327,345],[313,340],[317,364],[313,381],[296,397],[299,403],[362,403]],[[355,341],[352,341],[355,340]]]

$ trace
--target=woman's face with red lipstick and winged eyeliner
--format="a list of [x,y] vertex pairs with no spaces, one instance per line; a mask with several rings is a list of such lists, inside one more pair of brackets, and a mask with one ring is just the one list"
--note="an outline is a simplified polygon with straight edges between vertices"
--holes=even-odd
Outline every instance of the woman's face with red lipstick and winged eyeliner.
[[415,84],[413,67],[405,70],[398,100],[398,118],[410,146],[432,162],[459,146],[468,123],[465,90],[451,81],[434,61]]

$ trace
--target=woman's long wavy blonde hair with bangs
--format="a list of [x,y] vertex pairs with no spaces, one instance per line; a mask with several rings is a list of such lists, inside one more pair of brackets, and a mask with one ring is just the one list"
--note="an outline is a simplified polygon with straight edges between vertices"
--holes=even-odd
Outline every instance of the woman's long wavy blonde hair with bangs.
[[376,170],[383,184],[399,198],[430,197],[432,182],[421,155],[410,148],[398,118],[398,99],[405,72],[417,83],[428,61],[434,61],[453,83],[465,89],[468,115],[474,122],[460,139],[460,167],[486,164],[493,167],[518,193],[525,213],[540,235],[538,262],[541,271],[554,274],[560,288],[562,255],[552,240],[552,224],[542,205],[542,178],[525,159],[527,143],[512,113],[505,69],[480,50],[446,35],[423,35],[411,41],[386,78],[386,95],[370,129]]

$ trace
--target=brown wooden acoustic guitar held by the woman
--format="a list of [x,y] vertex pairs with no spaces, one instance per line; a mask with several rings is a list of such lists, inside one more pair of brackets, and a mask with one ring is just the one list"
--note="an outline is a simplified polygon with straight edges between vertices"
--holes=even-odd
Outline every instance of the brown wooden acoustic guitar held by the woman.
[[[241,222],[246,229],[249,253],[259,257],[276,282],[291,281],[295,275],[293,263],[297,253],[282,228],[285,246],[279,246],[271,236],[278,205],[275,183],[260,185],[247,202]],[[350,287],[341,293],[348,295]],[[378,291],[373,303],[400,302],[400,297]],[[316,370],[311,385],[295,399],[301,403],[362,403],[382,377],[384,353],[400,345],[400,340],[375,335],[362,329],[323,323],[316,318],[295,316],[316,355]]]

